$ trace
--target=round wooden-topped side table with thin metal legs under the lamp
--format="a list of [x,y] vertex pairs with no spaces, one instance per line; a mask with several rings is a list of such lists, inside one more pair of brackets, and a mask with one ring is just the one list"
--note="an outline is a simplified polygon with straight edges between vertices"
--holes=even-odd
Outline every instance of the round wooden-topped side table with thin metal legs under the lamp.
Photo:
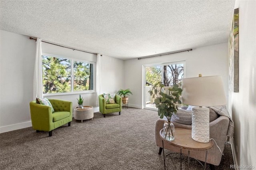
[[[214,142],[212,140],[210,140],[210,142],[208,143],[197,142],[196,140],[193,140],[191,137],[191,129],[185,129],[185,128],[175,128],[174,136],[175,136],[174,140],[172,141],[166,140],[166,138],[164,138],[164,129],[160,130],[160,137],[162,138],[162,144],[163,144],[163,155],[164,155],[164,141],[167,142],[168,144],[171,144],[173,146],[180,148],[180,154],[182,154],[181,153],[182,149],[188,150],[188,169],[189,169],[190,150],[206,151],[205,162],[204,162],[204,169],[205,169],[207,151],[214,146]],[[166,169],[165,156],[164,156],[164,169]],[[181,169],[181,165],[180,165],[180,169]]]

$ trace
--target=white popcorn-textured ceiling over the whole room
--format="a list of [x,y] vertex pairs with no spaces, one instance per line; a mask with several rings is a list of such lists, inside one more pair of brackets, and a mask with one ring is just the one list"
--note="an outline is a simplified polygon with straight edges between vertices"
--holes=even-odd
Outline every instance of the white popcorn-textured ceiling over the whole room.
[[0,29],[132,59],[228,42],[234,0],[0,0]]

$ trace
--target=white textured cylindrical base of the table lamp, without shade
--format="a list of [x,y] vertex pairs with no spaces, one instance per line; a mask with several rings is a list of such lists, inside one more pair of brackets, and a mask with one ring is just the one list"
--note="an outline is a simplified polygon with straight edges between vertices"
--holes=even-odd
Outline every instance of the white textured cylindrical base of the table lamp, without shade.
[[206,107],[192,107],[192,139],[207,143],[209,142],[209,109]]

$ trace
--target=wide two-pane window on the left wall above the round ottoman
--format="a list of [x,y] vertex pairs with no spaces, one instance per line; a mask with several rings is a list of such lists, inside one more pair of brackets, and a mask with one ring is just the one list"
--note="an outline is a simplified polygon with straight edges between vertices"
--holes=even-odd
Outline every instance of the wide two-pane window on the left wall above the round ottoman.
[[94,90],[94,62],[42,55],[43,93]]

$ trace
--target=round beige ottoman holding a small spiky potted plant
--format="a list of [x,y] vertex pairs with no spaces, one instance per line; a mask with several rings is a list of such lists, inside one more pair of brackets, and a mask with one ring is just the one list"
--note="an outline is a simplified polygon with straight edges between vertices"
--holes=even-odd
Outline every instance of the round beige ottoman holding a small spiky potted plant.
[[83,120],[91,119],[94,116],[94,109],[92,106],[83,106],[83,109],[80,109],[78,107],[75,108],[75,119],[81,120],[83,123]]

